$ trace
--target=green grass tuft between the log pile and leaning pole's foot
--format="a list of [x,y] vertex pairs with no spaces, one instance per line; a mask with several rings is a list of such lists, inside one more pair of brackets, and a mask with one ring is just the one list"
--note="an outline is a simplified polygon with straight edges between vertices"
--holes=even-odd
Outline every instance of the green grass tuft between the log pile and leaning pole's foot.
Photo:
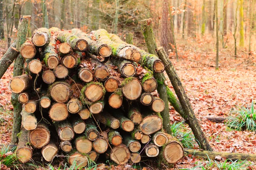
[[185,148],[193,149],[197,144],[192,131],[189,131],[184,122],[174,122],[171,125],[172,136],[177,137]]

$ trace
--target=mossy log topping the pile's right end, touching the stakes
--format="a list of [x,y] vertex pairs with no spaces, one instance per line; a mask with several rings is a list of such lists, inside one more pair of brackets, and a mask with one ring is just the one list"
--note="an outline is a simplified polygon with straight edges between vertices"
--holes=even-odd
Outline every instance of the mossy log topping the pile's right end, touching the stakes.
[[[113,42],[120,43],[122,45],[128,45],[115,34],[110,34],[110,38]],[[164,71],[165,68],[163,62],[160,59],[158,59],[158,57],[155,54],[149,54],[134,45],[131,46],[137,49],[137,51],[139,51],[141,54],[141,59],[137,61],[140,65],[142,65],[143,67],[147,67],[155,73],[162,73]]]

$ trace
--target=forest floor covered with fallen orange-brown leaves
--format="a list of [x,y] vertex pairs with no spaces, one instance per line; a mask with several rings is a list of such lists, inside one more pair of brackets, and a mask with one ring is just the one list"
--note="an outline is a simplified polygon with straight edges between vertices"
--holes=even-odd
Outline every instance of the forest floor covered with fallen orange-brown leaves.
[[[172,54],[170,59],[213,150],[256,154],[255,132],[230,130],[223,123],[213,123],[201,118],[202,116],[227,117],[230,116],[232,108],[250,105],[252,100],[256,100],[256,55],[248,56],[240,50],[235,59],[233,51],[221,49],[219,70],[215,70],[216,52],[211,48],[192,47],[188,42],[189,40],[178,46],[179,62]],[[200,43],[204,45],[207,42]],[[0,48],[0,58],[5,51],[6,49]],[[11,140],[13,108],[8,83],[12,77],[12,71],[13,65],[0,80],[0,118],[6,121],[2,125],[0,123],[0,144],[8,144]],[[171,83],[169,85],[173,90]],[[182,121],[173,109],[170,113],[172,122]],[[256,163],[251,163],[251,168],[256,169]],[[204,165],[207,161],[185,156],[175,164],[175,167],[190,169],[198,164]]]

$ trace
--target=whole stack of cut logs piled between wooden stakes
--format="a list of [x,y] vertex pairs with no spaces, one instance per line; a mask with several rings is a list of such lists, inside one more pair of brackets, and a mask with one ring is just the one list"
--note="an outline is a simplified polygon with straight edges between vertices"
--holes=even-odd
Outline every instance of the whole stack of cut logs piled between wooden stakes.
[[99,154],[116,164],[156,156],[175,163],[183,156],[182,145],[162,129],[165,105],[153,73],[164,65],[156,56],[104,29],[58,28],[35,30],[20,54],[24,74],[9,88],[23,104],[21,162],[32,159],[34,148],[46,161],[63,154],[79,167]]

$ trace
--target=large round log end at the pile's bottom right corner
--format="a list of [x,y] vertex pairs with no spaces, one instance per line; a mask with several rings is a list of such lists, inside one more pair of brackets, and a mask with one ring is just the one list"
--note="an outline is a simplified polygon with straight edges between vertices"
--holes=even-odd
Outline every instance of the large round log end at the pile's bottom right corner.
[[183,157],[183,154],[183,147],[175,141],[167,144],[163,150],[163,157],[170,164],[180,160]]

